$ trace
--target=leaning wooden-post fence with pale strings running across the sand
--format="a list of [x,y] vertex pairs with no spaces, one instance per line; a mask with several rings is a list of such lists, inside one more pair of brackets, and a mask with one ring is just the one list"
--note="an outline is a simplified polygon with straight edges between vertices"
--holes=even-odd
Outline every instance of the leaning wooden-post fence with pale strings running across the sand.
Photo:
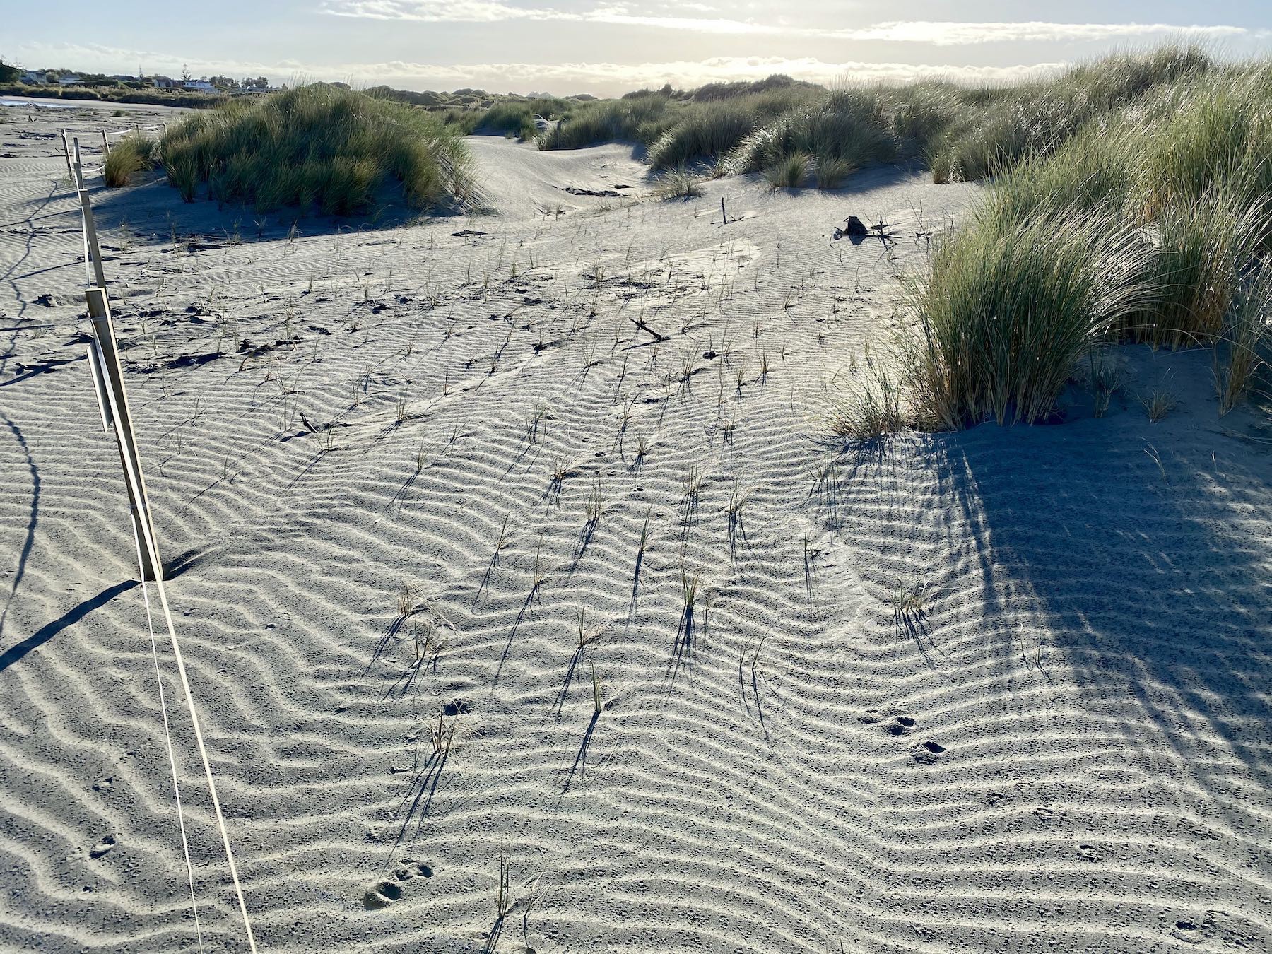
[[[126,134],[127,131],[125,131]],[[108,142],[108,131],[100,130],[103,144]],[[159,667],[158,637],[155,635],[154,613],[151,609],[150,590],[158,598],[159,609],[163,617],[163,626],[168,632],[172,645],[173,659],[176,661],[177,675],[181,681],[184,696],[186,710],[190,714],[191,728],[195,733],[195,742],[198,757],[202,762],[204,777],[207,781],[207,791],[212,803],[212,813],[221,834],[221,846],[225,851],[225,861],[229,866],[230,880],[234,884],[234,894],[238,899],[239,912],[243,916],[243,929],[245,931],[247,948],[251,954],[256,954],[256,937],[252,932],[252,920],[248,915],[247,901],[243,895],[243,887],[239,883],[238,865],[234,861],[234,850],[230,845],[229,831],[225,826],[225,817],[221,812],[221,803],[216,794],[216,781],[212,775],[211,762],[207,757],[207,748],[204,744],[204,731],[198,719],[198,709],[195,703],[195,695],[190,686],[190,677],[186,670],[184,656],[181,651],[181,641],[177,637],[177,628],[168,608],[168,594],[163,580],[163,562],[159,558],[159,547],[155,538],[154,522],[150,515],[150,502],[146,497],[145,478],[141,473],[141,458],[137,452],[136,435],[132,430],[132,418],[128,410],[127,392],[123,387],[123,369],[120,363],[118,343],[114,337],[114,326],[111,321],[111,307],[106,289],[106,275],[102,267],[102,252],[97,239],[97,224],[93,218],[93,205],[89,191],[84,184],[84,164],[80,153],[79,137],[74,139],[74,160],[71,146],[66,134],[62,134],[62,144],[66,150],[66,167],[71,176],[71,184],[79,198],[79,207],[84,237],[84,272],[85,290],[84,299],[88,304],[89,319],[93,326],[92,341],[88,346],[89,368],[93,378],[93,388],[97,393],[98,410],[102,415],[102,427],[108,430],[114,427],[114,438],[120,450],[120,464],[123,471],[123,483],[128,495],[128,504],[132,515],[134,541],[136,543],[137,567],[141,575],[141,593],[146,609],[146,626],[150,630],[151,654],[155,664],[155,682],[159,686],[159,709],[163,712],[164,739],[168,747],[168,763],[172,770],[173,798],[177,806],[177,822],[181,828],[181,846],[186,860],[186,874],[190,885],[190,903],[195,915],[195,932],[198,940],[198,949],[204,949],[202,926],[198,918],[198,902],[195,893],[195,870],[190,856],[190,840],[186,831],[186,818],[182,808],[181,784],[177,775],[177,759],[173,749],[172,730],[168,721],[167,700],[163,691],[163,677]]]

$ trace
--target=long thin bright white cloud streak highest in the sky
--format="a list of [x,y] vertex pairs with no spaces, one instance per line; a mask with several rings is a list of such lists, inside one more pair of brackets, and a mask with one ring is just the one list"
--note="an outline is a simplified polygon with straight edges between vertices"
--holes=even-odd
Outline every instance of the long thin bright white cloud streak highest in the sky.
[[[889,20],[861,28],[794,27],[719,17],[674,17],[626,5],[595,6],[586,10],[515,6],[497,0],[324,0],[322,11],[337,17],[380,20],[420,20],[424,23],[500,23],[508,20],[570,20],[656,27],[698,33],[739,36],[820,37],[828,39],[889,41],[965,46],[1006,42],[1074,42],[1135,39],[1155,36],[1193,36],[1235,38],[1255,36],[1245,27],[1173,25],[1168,23],[954,23],[945,20]],[[678,9],[714,13],[703,4],[684,4]]]

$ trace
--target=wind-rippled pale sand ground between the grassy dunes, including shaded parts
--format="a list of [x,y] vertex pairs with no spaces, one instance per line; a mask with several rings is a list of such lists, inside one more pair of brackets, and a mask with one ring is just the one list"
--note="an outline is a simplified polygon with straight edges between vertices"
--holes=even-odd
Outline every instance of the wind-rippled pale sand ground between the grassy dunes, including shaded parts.
[[[102,120],[4,118],[0,949],[191,950],[78,220],[20,135]],[[851,452],[827,402],[974,187],[635,201],[625,148],[473,144],[499,215],[94,196],[261,949],[1272,946],[1269,434],[1208,357],[1127,349],[1102,420]],[[850,212],[892,261],[829,240]],[[205,941],[242,949],[170,716]]]

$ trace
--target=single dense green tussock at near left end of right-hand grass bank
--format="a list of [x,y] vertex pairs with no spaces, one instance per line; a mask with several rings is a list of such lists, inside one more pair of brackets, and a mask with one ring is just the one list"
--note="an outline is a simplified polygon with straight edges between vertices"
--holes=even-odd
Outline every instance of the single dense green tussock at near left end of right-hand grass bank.
[[1149,247],[1116,215],[1015,220],[987,210],[940,243],[909,290],[904,379],[920,421],[1047,417],[1074,366],[1142,308]]

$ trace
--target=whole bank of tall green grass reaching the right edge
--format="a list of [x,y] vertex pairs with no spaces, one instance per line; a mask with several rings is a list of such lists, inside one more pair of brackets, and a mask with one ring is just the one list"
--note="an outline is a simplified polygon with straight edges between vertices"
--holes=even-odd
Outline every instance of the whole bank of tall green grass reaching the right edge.
[[[915,280],[899,345],[915,421],[1040,420],[1117,341],[1215,347],[1221,411],[1249,389],[1268,343],[1269,70],[1150,62],[1174,85],[1004,167]],[[1100,103],[1149,84],[1113,73]]]

